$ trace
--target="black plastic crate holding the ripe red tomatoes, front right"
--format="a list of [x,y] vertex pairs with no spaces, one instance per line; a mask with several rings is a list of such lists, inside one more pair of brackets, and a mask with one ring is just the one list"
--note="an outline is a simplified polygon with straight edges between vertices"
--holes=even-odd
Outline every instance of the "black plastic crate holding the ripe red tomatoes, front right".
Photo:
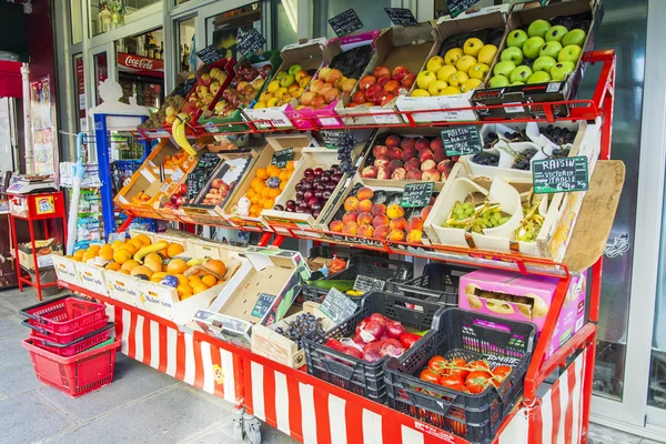
[[[400,359],[385,361],[389,405],[471,443],[491,443],[523,394],[536,325],[461,309],[445,309],[438,324]],[[512,365],[500,387],[470,394],[418,379],[435,355],[467,361],[486,359],[494,369]]]

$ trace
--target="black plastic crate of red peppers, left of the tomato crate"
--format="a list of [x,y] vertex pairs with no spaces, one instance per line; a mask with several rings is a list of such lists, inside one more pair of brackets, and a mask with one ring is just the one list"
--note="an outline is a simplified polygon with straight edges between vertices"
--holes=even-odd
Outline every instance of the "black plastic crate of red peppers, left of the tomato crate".
[[[371,363],[350,356],[326,345],[329,339],[354,337],[356,325],[373,313],[400,321],[405,331],[415,333],[438,324],[444,307],[406,297],[402,294],[372,292],[361,302],[360,310],[330,330],[324,337],[306,336],[304,342],[307,373],[350,392],[385,403],[386,386],[383,362]],[[415,345],[413,345],[414,347]]]

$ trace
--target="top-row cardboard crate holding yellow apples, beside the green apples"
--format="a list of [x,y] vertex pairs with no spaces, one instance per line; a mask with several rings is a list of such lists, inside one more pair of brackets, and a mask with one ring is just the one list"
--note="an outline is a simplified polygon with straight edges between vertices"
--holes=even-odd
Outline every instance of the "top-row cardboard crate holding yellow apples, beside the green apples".
[[[445,16],[437,20],[435,26],[437,42],[427,54],[424,63],[420,67],[417,74],[426,69],[427,61],[434,57],[444,57],[451,48],[462,48],[464,41],[472,37],[483,37],[488,41],[484,43],[500,46],[506,33],[506,18],[509,10],[508,4],[500,7],[482,8],[478,12],[462,13],[452,19]],[[500,51],[495,59],[498,58]],[[492,70],[490,71],[492,72]],[[488,77],[486,75],[486,79]],[[410,90],[410,94],[418,88],[416,82]],[[477,115],[472,110],[458,111],[432,111],[445,110],[450,108],[472,107],[472,92],[465,92],[453,95],[435,97],[411,97],[402,95],[397,98],[396,107],[400,111],[412,111],[412,118],[415,122],[443,122],[443,121],[475,121]],[[425,111],[425,112],[424,112]]]

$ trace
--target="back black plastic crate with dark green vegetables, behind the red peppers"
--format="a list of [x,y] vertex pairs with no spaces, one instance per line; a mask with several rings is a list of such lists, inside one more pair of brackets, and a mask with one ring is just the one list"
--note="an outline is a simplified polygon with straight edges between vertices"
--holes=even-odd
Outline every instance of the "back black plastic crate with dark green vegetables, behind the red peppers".
[[[367,255],[357,255],[350,259],[347,268],[335,274],[330,275],[325,281],[332,280],[350,280],[353,281],[359,274],[364,276],[381,279],[386,281],[384,290],[394,292],[396,282],[405,282],[414,275],[411,262],[401,261],[397,259],[373,258]],[[391,282],[390,282],[391,281]],[[319,286],[303,284],[303,297],[305,301],[322,303],[329,290],[320,289]],[[360,303],[363,296],[353,297],[353,301]]]

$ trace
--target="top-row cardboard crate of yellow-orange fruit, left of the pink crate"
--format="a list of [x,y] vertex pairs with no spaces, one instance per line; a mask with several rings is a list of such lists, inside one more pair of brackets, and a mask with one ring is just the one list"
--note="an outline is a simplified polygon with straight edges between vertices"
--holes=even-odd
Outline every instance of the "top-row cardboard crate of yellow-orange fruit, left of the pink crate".
[[[322,37],[285,46],[280,52],[282,64],[274,71],[273,78],[278,73],[289,70],[293,64],[300,64],[306,71],[317,71],[324,62],[324,48],[326,47],[326,42],[327,39]],[[285,113],[285,110],[289,107],[287,103],[281,107],[259,109],[255,108],[256,102],[258,101],[254,100],[249,108],[245,108],[242,111],[249,121],[253,121],[255,128],[260,130],[294,128],[294,124]]]

